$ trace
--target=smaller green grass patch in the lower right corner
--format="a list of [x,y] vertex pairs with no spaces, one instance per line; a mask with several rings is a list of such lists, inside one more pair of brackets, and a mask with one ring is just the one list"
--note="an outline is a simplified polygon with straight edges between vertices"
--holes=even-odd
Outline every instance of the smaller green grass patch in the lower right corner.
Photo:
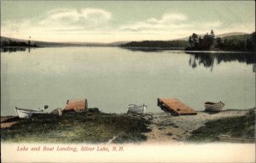
[[209,143],[218,141],[219,135],[231,137],[255,138],[255,110],[250,110],[247,115],[223,118],[215,121],[208,121],[192,132],[187,138],[188,142]]

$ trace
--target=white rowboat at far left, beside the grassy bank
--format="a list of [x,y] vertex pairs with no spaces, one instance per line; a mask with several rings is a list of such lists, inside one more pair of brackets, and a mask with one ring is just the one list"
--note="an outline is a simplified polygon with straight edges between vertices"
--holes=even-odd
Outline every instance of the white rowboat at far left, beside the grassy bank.
[[32,115],[36,114],[47,114],[47,112],[45,111],[46,109],[48,109],[47,105],[44,106],[44,109],[39,108],[38,110],[20,109],[15,106],[16,113],[17,115],[19,115],[20,118],[30,118]]

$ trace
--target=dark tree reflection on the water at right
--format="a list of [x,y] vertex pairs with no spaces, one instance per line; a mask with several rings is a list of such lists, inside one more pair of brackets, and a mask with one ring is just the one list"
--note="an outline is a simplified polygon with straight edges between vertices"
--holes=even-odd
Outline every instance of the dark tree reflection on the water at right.
[[238,61],[253,65],[255,63],[254,53],[201,53],[201,52],[186,52],[190,54],[189,65],[194,69],[198,65],[203,65],[206,68],[213,70],[213,65],[218,65],[222,62]]

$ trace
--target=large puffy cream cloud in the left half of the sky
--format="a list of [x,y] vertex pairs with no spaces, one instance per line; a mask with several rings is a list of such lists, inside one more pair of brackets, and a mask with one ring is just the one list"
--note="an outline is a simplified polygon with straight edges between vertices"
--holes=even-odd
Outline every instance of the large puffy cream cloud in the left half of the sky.
[[112,14],[100,8],[61,8],[54,9],[40,17],[29,20],[9,20],[3,22],[1,31],[11,35],[26,33],[76,33],[98,31],[108,28]]

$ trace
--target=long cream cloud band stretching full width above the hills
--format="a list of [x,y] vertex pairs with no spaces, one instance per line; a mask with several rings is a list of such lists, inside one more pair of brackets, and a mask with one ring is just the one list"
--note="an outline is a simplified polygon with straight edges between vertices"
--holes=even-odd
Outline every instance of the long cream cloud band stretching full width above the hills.
[[113,42],[171,40],[188,37],[192,32],[203,34],[210,30],[224,33],[255,29],[253,24],[232,26],[221,20],[192,21],[189,15],[178,13],[166,13],[158,18],[148,17],[122,25],[113,24],[113,20],[112,14],[101,8],[59,8],[29,20],[4,21],[1,32],[6,37],[32,36],[42,41]]

